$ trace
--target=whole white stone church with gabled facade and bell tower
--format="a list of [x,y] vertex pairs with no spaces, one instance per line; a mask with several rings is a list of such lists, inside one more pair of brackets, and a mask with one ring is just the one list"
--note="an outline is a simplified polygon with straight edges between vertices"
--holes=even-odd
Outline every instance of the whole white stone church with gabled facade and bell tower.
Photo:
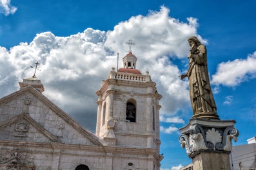
[[[35,77],[0,99],[0,170],[159,170],[159,100],[132,51],[97,90],[95,134],[43,95]],[[47,90],[47,89],[45,89]]]

